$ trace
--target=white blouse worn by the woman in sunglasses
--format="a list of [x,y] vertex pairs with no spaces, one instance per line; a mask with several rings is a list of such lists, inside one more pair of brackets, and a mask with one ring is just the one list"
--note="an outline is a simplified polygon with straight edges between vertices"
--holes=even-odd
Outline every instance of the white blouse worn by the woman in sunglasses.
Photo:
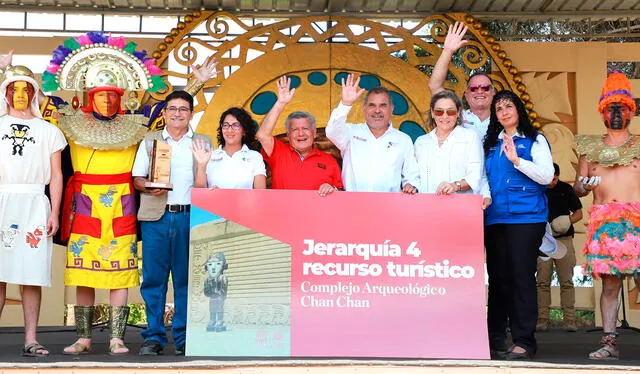
[[438,146],[434,129],[419,137],[414,147],[420,170],[420,192],[435,193],[440,183],[462,179],[471,189],[459,193],[480,192],[484,153],[475,131],[456,126]]

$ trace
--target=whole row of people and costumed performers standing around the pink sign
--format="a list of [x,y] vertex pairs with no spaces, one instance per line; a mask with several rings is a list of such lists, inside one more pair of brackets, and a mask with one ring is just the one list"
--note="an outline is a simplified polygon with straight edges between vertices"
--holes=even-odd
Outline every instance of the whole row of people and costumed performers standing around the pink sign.
[[[177,355],[184,354],[191,189],[266,188],[266,163],[272,188],[317,190],[320,196],[340,190],[481,194],[490,348],[502,359],[532,358],[539,324],[536,271],[540,271],[538,257],[547,222],[569,215],[569,224],[575,223],[581,211],[580,216],[574,212],[581,207],[573,204],[569,213],[550,212],[546,190],[549,185],[555,187],[559,170],[554,168],[549,143],[531,124],[516,93],[496,92],[487,75],[476,74],[468,80],[464,94],[468,109],[464,109],[461,99],[443,88],[448,65],[465,44],[466,31],[466,26],[456,23],[445,39],[429,83],[428,126],[433,130],[415,144],[391,126],[393,101],[386,88],[365,91],[358,77],[350,74],[342,79],[341,101],[325,129],[342,154],[342,167],[315,146],[316,121],[308,112],[287,116],[288,144],[274,137],[276,123],[295,94],[287,77],[278,80],[277,101],[257,130],[245,110],[226,110],[217,130],[219,146],[213,149],[211,139],[195,133],[189,122],[193,94],[215,76],[214,62],[196,69],[197,79],[185,91],[174,91],[163,103],[144,108],[149,118],[137,123],[121,110],[124,89],[130,88],[123,87],[117,74],[110,76],[114,66],[95,76],[88,69],[80,77],[87,81],[81,88],[89,90],[90,103],[78,119],[60,110],[53,98],[39,98],[37,82],[11,67],[10,55],[0,58],[0,68],[7,72],[0,86],[5,98],[0,103],[0,132],[2,142],[11,142],[11,147],[0,147],[0,296],[4,300],[6,283],[23,285],[23,353],[49,354],[37,342],[35,329],[40,286],[50,284],[51,236],[58,229],[60,206],[65,205],[60,153],[69,142],[75,174],[65,196],[65,202],[71,203],[68,211],[73,212],[65,285],[77,286],[78,339],[64,349],[65,354],[92,349],[95,288],[111,290],[109,353],[129,352],[123,338],[127,289],[138,285],[136,214],[142,230],[141,293],[148,321],[140,355],[162,354],[168,344],[164,312],[170,274],[175,299],[173,344]],[[79,45],[83,41],[78,40]],[[64,64],[59,69],[75,71]],[[347,123],[361,97],[365,122]],[[52,117],[58,127],[40,119],[41,111],[48,113],[48,105],[61,113]],[[593,191],[595,204],[589,211],[587,270],[601,277],[604,286],[605,334],[601,347],[590,354],[593,359],[618,357],[617,293],[622,276],[635,275],[640,267],[640,222],[636,222],[640,174],[635,171],[640,166],[640,146],[628,130],[635,110],[629,81],[613,73],[599,106],[606,135],[577,137],[580,163],[573,190],[580,196]],[[116,131],[118,140],[101,134],[101,126]],[[171,148],[170,191],[147,184],[154,142]],[[45,185],[50,186],[51,205],[44,195]],[[137,210],[134,189],[140,193]],[[25,204],[33,208],[24,209]],[[573,234],[567,232],[561,234]],[[508,331],[512,344],[507,343]]]

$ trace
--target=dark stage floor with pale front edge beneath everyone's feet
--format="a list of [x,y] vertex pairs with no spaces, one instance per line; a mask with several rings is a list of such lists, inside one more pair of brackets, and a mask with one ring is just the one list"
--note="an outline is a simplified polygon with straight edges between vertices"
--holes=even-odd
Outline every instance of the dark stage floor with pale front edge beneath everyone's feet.
[[[130,328],[126,341],[131,353],[109,356],[108,331],[94,330],[93,352],[82,356],[62,355],[65,345],[73,342],[75,332],[69,327],[40,328],[38,338],[52,352],[49,357],[21,356],[23,333],[21,328],[0,328],[0,373],[640,373],[640,333],[622,330],[619,338],[621,359],[618,361],[591,361],[587,354],[600,339],[598,332],[580,330],[567,333],[551,329],[538,333],[539,350],[535,359],[526,362],[495,360],[415,360],[371,358],[212,358],[177,357],[173,346],[157,357],[140,357],[142,344],[140,330]],[[451,337],[451,339],[457,339]],[[460,344],[473,344],[463,338]],[[381,342],[381,344],[383,344]]]

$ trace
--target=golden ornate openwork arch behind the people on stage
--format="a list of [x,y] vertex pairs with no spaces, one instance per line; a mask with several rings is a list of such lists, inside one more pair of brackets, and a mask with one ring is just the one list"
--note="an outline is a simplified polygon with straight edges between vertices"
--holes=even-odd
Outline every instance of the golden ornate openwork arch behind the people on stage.
[[[497,88],[508,88],[518,93],[525,102],[534,125],[539,127],[539,123],[535,121],[537,113],[533,111],[533,103],[526,86],[522,83],[522,77],[512,61],[508,59],[506,52],[496,43],[495,38],[489,35],[482,23],[462,13],[434,15],[421,20],[415,27],[406,29],[369,19],[343,16],[310,16],[268,25],[247,26],[239,18],[227,12],[194,11],[186,15],[184,20],[170,31],[152,56],[159,64],[163,64],[172,54],[180,65],[189,66],[204,60],[204,56],[199,55],[198,50],[194,48],[194,45],[198,45],[200,50],[204,49],[207,54],[216,57],[219,70],[226,68],[224,74],[219,74],[205,85],[206,88],[217,89],[210,103],[207,103],[203,93],[198,95],[198,105],[195,110],[196,112],[205,111],[199,131],[208,134],[215,133],[217,119],[222,111],[229,106],[248,108],[261,91],[269,89],[273,91],[274,82],[279,76],[291,73],[304,76],[314,71],[329,72],[329,81],[340,71],[374,74],[380,78],[383,85],[397,89],[401,96],[408,99],[408,118],[422,125],[426,119],[430,93],[426,85],[429,78],[420,69],[435,65],[440,55],[439,44],[444,41],[449,25],[456,21],[466,23],[469,26],[469,33],[474,37],[461,52],[465,66],[476,69],[483,66],[490,57],[498,69],[489,74]],[[317,27],[318,23],[331,26],[325,30]],[[209,41],[189,35],[200,25],[204,25],[208,34],[206,38],[210,39]],[[354,32],[352,29],[354,26],[361,27],[364,31]],[[431,26],[430,31],[425,34],[424,30],[429,26]],[[229,39],[229,31],[232,27],[241,30],[241,33]],[[282,31],[285,29],[292,29],[294,32],[292,35],[287,35]],[[389,41],[385,36],[394,40]],[[225,38],[227,40],[220,42]],[[334,42],[337,38],[340,39],[339,43]],[[426,39],[432,39],[436,43]],[[368,43],[368,47],[362,45],[365,42]],[[365,51],[367,48],[368,51]],[[328,57],[314,63],[313,55],[321,50],[324,50]],[[419,50],[426,53],[418,53]],[[231,51],[234,51],[233,56],[230,55]],[[374,51],[375,53],[372,54]],[[259,53],[261,56],[252,60],[251,53]],[[368,60],[364,63],[368,62],[369,65],[361,68],[347,59],[340,60],[337,56],[342,56],[344,53],[367,55]],[[404,59],[394,57],[392,55],[394,53],[403,53]],[[229,72],[230,67],[231,72]],[[447,81],[445,86],[462,96],[466,88],[466,73],[453,64],[449,67],[449,73],[453,75],[455,82]],[[165,74],[186,77],[186,74],[171,70],[166,71]],[[336,92],[335,87],[326,88],[323,94],[327,92],[330,96],[330,105],[323,104],[321,112],[326,113],[322,114],[324,118],[318,118],[320,127],[333,105],[339,101],[340,93]],[[162,99],[164,95],[166,93],[156,94],[154,98]],[[296,109],[302,108],[291,108],[291,110]],[[312,113],[316,114],[314,111]],[[259,116],[257,117],[256,119],[259,120]],[[353,118],[350,117],[350,119]],[[280,127],[277,130],[283,129]]]

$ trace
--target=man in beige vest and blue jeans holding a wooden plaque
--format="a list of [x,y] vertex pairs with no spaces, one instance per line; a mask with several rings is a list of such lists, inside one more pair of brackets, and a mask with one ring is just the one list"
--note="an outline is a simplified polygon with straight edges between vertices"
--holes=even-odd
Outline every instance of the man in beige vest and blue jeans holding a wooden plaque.
[[[176,355],[184,355],[187,327],[187,285],[189,277],[189,212],[194,165],[192,141],[202,139],[211,147],[208,136],[195,134],[189,127],[193,117],[193,97],[174,91],[166,98],[161,132],[150,133],[140,143],[133,165],[133,184],[141,192],[138,220],[142,227],[142,285],[147,329],[140,355],[159,355],[167,345],[164,326],[167,282],[173,280],[175,310],[171,335]],[[153,140],[171,148],[170,182],[173,189],[147,189]]]

